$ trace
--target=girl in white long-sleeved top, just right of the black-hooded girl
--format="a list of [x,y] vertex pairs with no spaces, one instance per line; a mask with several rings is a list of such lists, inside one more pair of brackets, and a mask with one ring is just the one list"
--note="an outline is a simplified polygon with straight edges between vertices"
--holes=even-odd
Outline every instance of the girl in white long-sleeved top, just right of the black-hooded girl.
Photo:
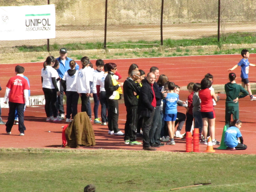
[[[86,112],[88,115],[88,100],[89,96],[92,97],[92,81],[93,76],[91,68],[89,67],[89,58],[82,57],[81,64],[82,68],[78,71],[76,78],[76,91],[79,93],[82,101],[81,112]],[[88,115],[89,116],[89,115]]]

